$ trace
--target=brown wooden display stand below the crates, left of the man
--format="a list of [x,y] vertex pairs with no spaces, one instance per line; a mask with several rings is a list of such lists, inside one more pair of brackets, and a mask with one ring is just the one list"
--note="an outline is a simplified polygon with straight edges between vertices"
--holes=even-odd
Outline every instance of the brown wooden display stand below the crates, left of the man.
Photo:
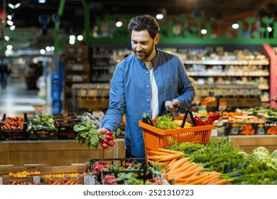
[[123,139],[115,139],[114,148],[87,149],[75,140],[0,141],[0,165],[23,166],[43,163],[45,166],[65,166],[85,163],[92,158],[124,158]]

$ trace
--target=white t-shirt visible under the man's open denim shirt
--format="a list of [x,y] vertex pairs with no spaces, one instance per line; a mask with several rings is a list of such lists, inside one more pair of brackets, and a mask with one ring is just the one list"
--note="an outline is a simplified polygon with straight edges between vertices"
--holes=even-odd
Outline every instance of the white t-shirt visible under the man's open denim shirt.
[[144,62],[146,68],[150,72],[150,82],[151,82],[151,119],[158,117],[158,87],[153,74],[153,65],[151,62]]

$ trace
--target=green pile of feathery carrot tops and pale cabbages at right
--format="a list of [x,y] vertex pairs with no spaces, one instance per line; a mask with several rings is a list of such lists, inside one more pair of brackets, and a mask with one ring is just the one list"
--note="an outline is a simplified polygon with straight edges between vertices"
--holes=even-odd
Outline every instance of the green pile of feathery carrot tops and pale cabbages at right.
[[205,171],[222,173],[232,184],[276,185],[277,184],[277,150],[272,154],[260,146],[251,154],[235,149],[231,142],[210,139],[209,144],[184,142],[168,146],[168,149],[183,151],[184,156],[205,168]]

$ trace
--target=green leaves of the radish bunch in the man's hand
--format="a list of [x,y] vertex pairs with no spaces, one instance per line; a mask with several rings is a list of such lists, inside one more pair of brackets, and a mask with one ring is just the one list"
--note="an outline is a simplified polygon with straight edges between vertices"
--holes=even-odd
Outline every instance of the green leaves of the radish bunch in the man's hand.
[[75,124],[73,127],[74,131],[77,132],[75,140],[80,144],[87,143],[87,148],[98,148],[99,147],[99,133],[96,127],[93,127],[93,124],[90,120],[85,120],[80,124]]

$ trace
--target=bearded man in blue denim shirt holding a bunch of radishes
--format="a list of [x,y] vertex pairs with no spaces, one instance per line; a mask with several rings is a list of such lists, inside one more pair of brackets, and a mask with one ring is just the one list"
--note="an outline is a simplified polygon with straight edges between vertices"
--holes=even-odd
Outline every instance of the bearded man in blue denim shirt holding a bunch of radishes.
[[195,90],[180,59],[155,47],[160,38],[155,18],[136,16],[128,29],[134,53],[116,65],[109,109],[98,131],[116,131],[125,114],[126,158],[144,158],[143,133],[139,127],[143,112],[156,118],[176,111],[173,105],[190,108]]

